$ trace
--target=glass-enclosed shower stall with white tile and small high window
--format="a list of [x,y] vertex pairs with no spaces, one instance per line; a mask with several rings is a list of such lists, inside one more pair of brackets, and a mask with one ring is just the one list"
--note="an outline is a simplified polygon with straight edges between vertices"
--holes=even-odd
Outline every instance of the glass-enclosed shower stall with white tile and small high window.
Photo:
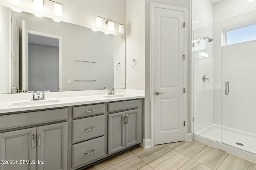
[[256,156],[256,11],[193,31],[196,137]]

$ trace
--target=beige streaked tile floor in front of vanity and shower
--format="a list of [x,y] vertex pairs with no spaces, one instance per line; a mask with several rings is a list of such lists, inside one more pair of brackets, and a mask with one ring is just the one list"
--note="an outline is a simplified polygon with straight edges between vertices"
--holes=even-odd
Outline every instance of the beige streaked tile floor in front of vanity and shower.
[[256,170],[256,164],[197,141],[136,147],[84,170]]

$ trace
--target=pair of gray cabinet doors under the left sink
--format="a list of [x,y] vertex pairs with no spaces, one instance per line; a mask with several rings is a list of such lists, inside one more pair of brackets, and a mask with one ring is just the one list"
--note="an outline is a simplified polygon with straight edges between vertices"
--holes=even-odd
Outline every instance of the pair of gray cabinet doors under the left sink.
[[1,160],[15,161],[0,170],[67,170],[67,137],[67,122],[0,133]]

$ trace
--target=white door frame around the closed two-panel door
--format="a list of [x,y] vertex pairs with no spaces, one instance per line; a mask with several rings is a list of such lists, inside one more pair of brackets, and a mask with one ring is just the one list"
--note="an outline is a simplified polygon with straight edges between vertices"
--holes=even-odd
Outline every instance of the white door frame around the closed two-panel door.
[[[154,146],[154,8],[184,12],[184,141],[188,140],[188,9],[165,4],[150,3],[150,105],[151,105],[151,146]],[[145,146],[147,147],[147,146]]]

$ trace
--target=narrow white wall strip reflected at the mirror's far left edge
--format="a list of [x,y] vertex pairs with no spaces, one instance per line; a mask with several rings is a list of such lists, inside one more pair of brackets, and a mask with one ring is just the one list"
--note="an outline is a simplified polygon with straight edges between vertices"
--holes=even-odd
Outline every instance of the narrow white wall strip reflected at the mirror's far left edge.
[[[10,10],[0,6],[0,94],[10,93]],[[8,82],[8,83],[6,83]]]

